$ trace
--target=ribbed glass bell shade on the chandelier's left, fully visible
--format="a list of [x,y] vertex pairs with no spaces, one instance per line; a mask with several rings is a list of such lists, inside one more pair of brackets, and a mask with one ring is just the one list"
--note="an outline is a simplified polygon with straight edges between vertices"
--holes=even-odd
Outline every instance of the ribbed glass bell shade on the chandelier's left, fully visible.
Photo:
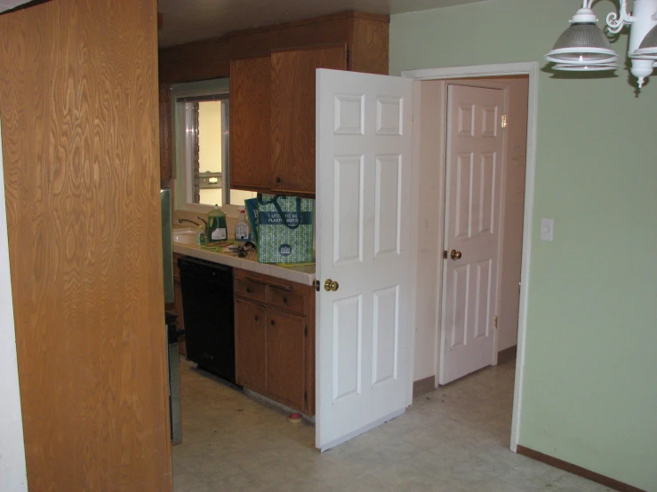
[[[618,60],[609,40],[594,23],[573,23],[559,36],[545,60],[571,67],[611,65]],[[611,69],[611,68],[606,68]]]

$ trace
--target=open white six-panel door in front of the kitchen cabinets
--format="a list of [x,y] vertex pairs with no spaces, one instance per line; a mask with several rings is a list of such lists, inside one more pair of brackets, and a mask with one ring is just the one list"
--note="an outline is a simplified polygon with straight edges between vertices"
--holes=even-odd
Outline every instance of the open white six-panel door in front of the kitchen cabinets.
[[323,451],[405,411],[412,98],[413,79],[316,73],[316,447]]

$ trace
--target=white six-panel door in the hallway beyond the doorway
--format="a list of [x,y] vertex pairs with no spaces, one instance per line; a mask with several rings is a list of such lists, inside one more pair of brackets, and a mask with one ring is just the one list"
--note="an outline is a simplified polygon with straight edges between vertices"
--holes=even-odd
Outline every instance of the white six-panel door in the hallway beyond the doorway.
[[504,93],[450,85],[439,383],[493,363]]

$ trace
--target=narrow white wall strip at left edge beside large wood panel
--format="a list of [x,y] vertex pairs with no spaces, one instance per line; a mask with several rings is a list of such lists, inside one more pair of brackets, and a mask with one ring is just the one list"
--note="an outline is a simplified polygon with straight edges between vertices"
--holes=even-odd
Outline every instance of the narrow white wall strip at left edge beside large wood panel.
[[27,492],[2,163],[0,150],[0,490]]

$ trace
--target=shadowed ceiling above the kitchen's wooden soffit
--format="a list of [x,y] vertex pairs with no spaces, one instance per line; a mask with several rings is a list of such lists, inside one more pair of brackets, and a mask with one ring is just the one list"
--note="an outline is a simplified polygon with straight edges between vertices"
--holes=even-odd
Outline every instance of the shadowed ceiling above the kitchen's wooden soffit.
[[[160,47],[343,11],[396,14],[486,0],[157,0]],[[0,4],[10,3],[0,0]],[[19,2],[22,3],[22,2]]]

